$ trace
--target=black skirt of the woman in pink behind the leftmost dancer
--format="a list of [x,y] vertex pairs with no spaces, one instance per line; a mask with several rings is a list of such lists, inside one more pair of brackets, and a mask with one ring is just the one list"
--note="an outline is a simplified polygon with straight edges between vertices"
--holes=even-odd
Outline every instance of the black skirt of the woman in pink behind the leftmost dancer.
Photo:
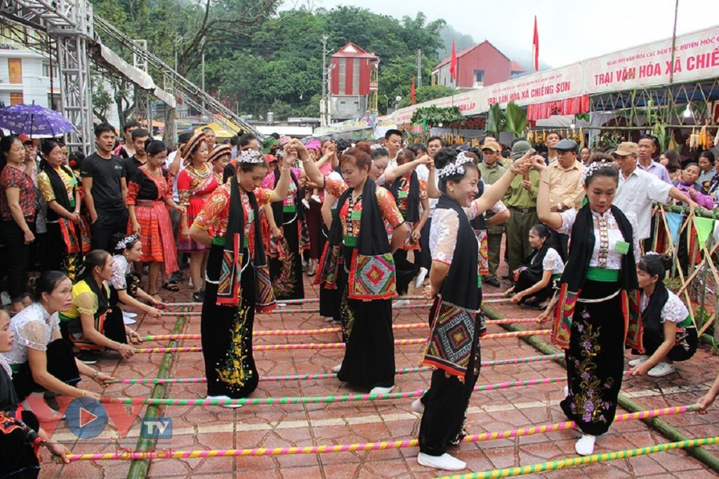
[[[301,208],[301,206],[298,206]],[[300,254],[300,233],[295,213],[284,214],[283,234],[290,250],[284,260],[270,258],[270,278],[275,298],[302,299],[305,290],[302,278],[302,255]]]

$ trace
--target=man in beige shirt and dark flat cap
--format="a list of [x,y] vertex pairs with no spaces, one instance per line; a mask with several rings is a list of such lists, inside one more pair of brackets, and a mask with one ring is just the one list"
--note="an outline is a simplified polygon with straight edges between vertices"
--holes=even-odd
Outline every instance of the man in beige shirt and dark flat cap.
[[[577,142],[564,139],[554,145],[557,150],[557,161],[549,165],[549,204],[551,211],[567,211],[577,209],[582,205],[585,191],[582,188],[581,178],[585,166],[577,161]],[[566,234],[559,234],[559,246],[562,247],[564,257],[567,257]]]

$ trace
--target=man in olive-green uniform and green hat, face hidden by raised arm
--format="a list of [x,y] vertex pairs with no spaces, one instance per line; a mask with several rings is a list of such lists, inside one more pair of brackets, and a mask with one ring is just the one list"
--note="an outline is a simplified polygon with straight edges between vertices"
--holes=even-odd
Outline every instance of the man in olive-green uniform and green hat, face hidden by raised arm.
[[[510,158],[517,160],[526,152],[534,152],[528,142],[521,140],[512,146]],[[519,263],[532,253],[529,245],[529,230],[539,223],[537,216],[537,192],[539,191],[539,171],[529,170],[524,175],[517,175],[510,183],[502,202],[509,208],[509,219],[504,223],[507,232],[507,257],[511,272],[519,267]]]

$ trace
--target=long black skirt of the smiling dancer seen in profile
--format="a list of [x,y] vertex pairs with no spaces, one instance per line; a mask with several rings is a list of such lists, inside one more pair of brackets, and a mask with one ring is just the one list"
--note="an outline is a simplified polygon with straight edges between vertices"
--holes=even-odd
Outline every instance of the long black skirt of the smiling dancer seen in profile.
[[[429,321],[439,307],[439,298],[429,310]],[[431,327],[431,324],[430,324]],[[431,456],[441,456],[450,444],[458,444],[464,437],[464,421],[470,404],[472,389],[480,376],[480,315],[475,317],[475,338],[472,341],[470,363],[464,382],[457,376],[437,369],[432,373],[429,390],[422,397],[424,413],[419,426],[419,450]]]

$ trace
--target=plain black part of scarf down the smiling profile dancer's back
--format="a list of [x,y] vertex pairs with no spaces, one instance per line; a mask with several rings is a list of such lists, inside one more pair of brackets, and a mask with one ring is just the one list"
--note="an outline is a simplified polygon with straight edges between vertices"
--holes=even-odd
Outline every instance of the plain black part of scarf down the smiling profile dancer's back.
[[439,292],[442,301],[477,311],[480,309],[480,290],[477,288],[477,261],[479,259],[477,237],[472,231],[472,225],[467,214],[464,213],[464,209],[450,196],[441,195],[437,201],[437,209],[453,209],[459,216],[454,260],[449,266],[449,273],[447,273]]

